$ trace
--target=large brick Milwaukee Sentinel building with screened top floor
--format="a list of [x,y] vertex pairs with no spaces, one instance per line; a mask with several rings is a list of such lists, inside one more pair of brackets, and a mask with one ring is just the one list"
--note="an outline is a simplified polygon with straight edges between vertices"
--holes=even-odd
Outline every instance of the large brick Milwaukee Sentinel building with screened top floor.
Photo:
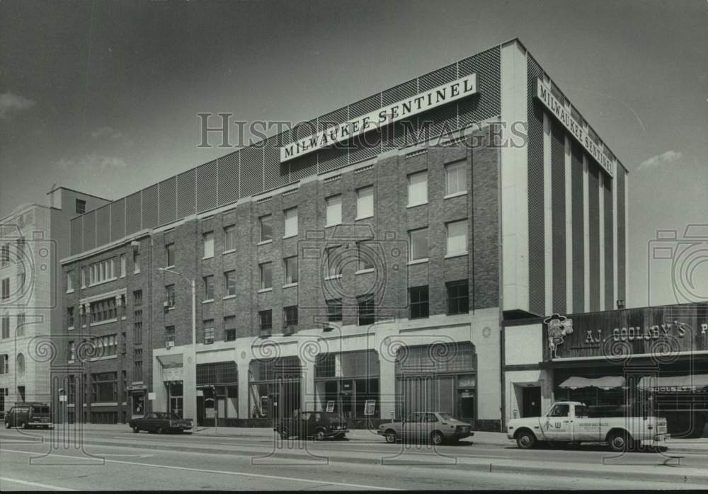
[[62,260],[85,418],[498,429],[503,319],[624,299],[626,188],[512,40],[86,212]]

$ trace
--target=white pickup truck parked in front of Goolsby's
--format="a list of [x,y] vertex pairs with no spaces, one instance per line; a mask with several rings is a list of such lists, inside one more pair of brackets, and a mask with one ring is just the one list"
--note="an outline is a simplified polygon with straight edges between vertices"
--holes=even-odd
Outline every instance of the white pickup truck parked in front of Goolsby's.
[[515,418],[507,426],[507,437],[521,449],[538,442],[607,442],[614,451],[634,449],[641,441],[668,439],[666,418],[588,416],[579,401],[559,401],[542,417]]

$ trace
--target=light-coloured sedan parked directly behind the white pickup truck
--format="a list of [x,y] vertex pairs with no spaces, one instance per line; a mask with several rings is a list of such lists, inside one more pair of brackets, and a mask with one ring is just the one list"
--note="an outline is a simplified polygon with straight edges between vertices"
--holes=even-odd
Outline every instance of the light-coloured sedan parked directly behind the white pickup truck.
[[405,420],[382,423],[377,434],[386,438],[386,442],[430,441],[433,444],[457,442],[464,437],[474,435],[472,425],[453,418],[449,413],[416,412]]

